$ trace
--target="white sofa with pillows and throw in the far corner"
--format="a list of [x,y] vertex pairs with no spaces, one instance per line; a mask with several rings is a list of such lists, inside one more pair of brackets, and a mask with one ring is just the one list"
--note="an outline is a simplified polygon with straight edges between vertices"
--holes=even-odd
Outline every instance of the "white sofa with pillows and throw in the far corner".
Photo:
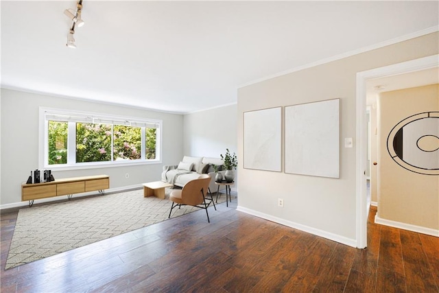
[[[164,165],[162,172],[162,181],[179,187],[185,186],[190,180],[198,178],[200,174],[209,174],[211,183],[209,189],[216,192],[218,185],[215,185],[215,171],[213,165],[223,165],[224,161],[217,158],[206,158],[205,156],[184,156],[178,165]],[[223,174],[226,171],[219,171]],[[224,189],[220,186],[219,190]]]

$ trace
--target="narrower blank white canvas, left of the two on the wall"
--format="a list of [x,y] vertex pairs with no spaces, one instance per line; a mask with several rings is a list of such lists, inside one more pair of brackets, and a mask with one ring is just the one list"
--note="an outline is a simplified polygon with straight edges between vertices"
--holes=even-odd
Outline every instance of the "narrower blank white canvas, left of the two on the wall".
[[282,108],[244,113],[244,168],[281,172]]

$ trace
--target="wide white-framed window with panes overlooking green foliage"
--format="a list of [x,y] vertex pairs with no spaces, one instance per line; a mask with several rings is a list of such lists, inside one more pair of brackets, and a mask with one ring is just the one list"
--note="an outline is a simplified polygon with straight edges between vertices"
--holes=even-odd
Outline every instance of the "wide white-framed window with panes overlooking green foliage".
[[44,168],[160,163],[162,121],[40,108]]

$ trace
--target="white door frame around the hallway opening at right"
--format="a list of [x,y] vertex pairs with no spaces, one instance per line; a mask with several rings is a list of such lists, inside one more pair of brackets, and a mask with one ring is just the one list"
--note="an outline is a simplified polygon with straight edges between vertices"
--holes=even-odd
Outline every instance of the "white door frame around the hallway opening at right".
[[366,119],[366,82],[372,78],[384,78],[431,69],[439,66],[439,55],[427,56],[406,62],[361,71],[357,73],[357,145],[356,145],[356,231],[357,248],[367,246],[368,207],[366,194],[366,163],[367,163],[367,119]]

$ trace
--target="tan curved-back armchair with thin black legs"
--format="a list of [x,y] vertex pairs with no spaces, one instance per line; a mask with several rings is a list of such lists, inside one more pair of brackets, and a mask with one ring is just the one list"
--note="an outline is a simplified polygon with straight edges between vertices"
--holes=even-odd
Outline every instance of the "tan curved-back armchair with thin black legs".
[[[206,210],[207,222],[209,220],[209,213],[207,208],[213,203],[215,207],[215,202],[213,202],[212,194],[209,192],[209,183],[211,183],[211,176],[209,174],[201,174],[197,179],[191,180],[180,190],[173,190],[169,195],[169,200],[172,201],[171,211],[169,211],[169,217],[171,218],[172,209],[174,207],[180,207],[182,205],[191,205],[193,207],[199,207],[200,209]],[[211,198],[206,198],[207,194],[211,195]],[[216,211],[215,207],[215,211]]]

